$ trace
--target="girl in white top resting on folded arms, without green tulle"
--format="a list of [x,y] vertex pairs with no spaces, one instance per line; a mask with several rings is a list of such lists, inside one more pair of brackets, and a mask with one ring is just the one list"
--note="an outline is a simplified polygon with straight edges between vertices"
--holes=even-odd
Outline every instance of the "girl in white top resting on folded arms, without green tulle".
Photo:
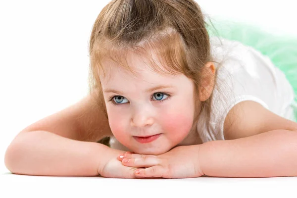
[[[297,176],[294,90],[259,51],[210,37],[194,0],[112,0],[90,40],[90,95],[22,130],[15,174]],[[97,143],[111,137],[110,147]],[[129,152],[125,152],[129,151]]]

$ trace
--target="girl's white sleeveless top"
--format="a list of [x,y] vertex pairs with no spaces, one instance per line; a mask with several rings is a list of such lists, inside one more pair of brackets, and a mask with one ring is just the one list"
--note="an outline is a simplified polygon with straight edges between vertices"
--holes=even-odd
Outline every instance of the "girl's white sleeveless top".
[[206,130],[203,119],[197,125],[202,142],[224,140],[224,120],[230,109],[244,100],[256,101],[294,121],[294,91],[285,74],[259,51],[236,41],[220,40],[211,38],[212,54],[222,63],[215,63],[218,87],[213,91],[211,130]]

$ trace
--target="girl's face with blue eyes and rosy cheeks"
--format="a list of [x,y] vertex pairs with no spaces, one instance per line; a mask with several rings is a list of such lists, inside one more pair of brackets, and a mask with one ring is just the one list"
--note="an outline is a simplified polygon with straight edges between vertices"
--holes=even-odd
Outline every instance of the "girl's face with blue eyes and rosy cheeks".
[[[110,129],[131,151],[165,153],[191,131],[194,83],[183,74],[153,72],[137,55],[129,56],[127,61],[137,71],[136,76],[108,61],[105,65],[110,68],[110,78],[100,78]],[[157,134],[158,138],[151,142],[137,138]]]

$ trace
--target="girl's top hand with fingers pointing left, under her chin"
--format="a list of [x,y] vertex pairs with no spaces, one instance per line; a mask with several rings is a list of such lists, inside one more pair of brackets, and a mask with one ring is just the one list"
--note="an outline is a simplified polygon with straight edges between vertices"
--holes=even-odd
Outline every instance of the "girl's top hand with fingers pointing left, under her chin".
[[135,175],[138,177],[201,177],[204,174],[199,165],[199,147],[200,145],[180,146],[161,155],[126,152],[117,159],[125,166],[137,167]]

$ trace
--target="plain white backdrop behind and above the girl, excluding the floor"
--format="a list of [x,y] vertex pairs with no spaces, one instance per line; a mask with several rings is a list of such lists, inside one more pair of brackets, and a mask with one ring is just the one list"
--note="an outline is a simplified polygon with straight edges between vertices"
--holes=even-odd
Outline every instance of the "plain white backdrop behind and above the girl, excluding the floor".
[[[197,1],[211,17],[297,35],[296,1]],[[87,94],[89,37],[107,2],[0,0],[0,173],[20,130]]]

